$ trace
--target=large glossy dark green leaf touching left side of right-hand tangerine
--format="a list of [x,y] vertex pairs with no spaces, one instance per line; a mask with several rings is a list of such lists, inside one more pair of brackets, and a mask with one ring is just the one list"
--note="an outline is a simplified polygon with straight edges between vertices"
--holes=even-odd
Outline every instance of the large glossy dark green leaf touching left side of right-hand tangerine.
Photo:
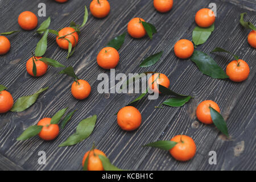
[[205,75],[208,75],[212,78],[228,78],[228,75],[226,75],[223,69],[218,66],[212,57],[208,56],[204,52],[194,51],[193,55],[191,56],[191,60]]

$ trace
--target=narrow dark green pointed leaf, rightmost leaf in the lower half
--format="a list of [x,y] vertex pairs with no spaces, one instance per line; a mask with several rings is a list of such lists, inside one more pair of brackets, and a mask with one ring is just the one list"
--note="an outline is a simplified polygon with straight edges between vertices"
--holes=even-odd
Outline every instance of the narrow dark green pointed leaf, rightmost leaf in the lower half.
[[210,107],[210,117],[212,118],[212,121],[217,129],[228,137],[228,127],[226,127],[226,122],[222,115],[218,113],[218,111]]

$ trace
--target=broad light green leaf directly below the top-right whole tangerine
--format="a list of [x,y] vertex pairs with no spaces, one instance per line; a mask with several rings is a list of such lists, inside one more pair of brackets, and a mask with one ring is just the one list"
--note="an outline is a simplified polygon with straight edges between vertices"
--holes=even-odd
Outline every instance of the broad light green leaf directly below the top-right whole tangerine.
[[212,26],[207,28],[195,27],[195,29],[192,32],[193,43],[196,46],[205,43],[209,38],[210,34],[212,34],[213,30],[214,30],[214,24],[212,24]]

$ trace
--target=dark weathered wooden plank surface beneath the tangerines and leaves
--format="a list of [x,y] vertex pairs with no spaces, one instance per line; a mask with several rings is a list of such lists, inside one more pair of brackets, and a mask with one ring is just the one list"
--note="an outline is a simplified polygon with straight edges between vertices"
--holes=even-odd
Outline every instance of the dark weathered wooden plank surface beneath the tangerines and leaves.
[[[56,3],[52,0],[0,1],[0,32],[20,30],[17,19],[24,10],[38,11],[38,3],[46,3],[47,17],[51,16],[51,29],[59,30],[69,25],[71,20],[82,22],[83,6],[90,1],[69,0]],[[72,65],[77,76],[87,80],[92,86],[89,98],[75,100],[70,89],[72,79],[57,75],[60,70],[49,68],[46,75],[33,78],[26,72],[26,61],[34,51],[40,36],[34,31],[21,31],[8,36],[11,50],[0,57],[0,83],[8,87],[14,100],[49,86],[36,104],[22,113],[0,115],[0,169],[3,170],[81,170],[82,156],[95,142],[115,166],[123,169],[139,170],[255,170],[255,58],[256,51],[247,43],[248,30],[239,24],[240,13],[247,12],[246,20],[256,24],[256,2],[254,0],[174,0],[173,9],[167,14],[158,13],[152,1],[110,0],[111,12],[104,19],[96,19],[89,13],[88,23],[81,30],[76,52],[65,59],[67,52],[60,49],[55,36],[48,38],[46,57],[52,57],[64,65]],[[174,55],[173,47],[181,38],[192,39],[196,26],[196,11],[217,4],[216,29],[208,41],[197,50],[209,53],[214,47],[233,51],[246,60],[250,66],[250,76],[246,81],[235,83],[217,80],[203,75],[191,60],[180,60]],[[154,24],[158,33],[154,38],[139,40],[126,36],[119,50],[121,59],[116,68],[118,73],[142,73],[158,71],[170,78],[171,89],[195,97],[183,107],[155,109],[168,97],[158,100],[144,98],[135,105],[142,113],[142,125],[138,130],[121,130],[116,121],[117,111],[132,101],[136,94],[99,94],[97,75],[108,73],[98,67],[97,53],[110,39],[126,31],[131,18],[139,16]],[[39,18],[39,24],[46,17]],[[149,68],[139,68],[143,57],[164,51],[162,59]],[[225,69],[232,56],[210,54]],[[230,139],[222,135],[214,126],[205,126],[196,119],[197,104],[203,100],[216,101],[226,119]],[[51,142],[34,137],[25,142],[16,138],[28,126],[39,119],[52,117],[57,110],[69,107],[77,109],[71,122],[60,135]],[[97,114],[98,119],[93,134],[83,142],[71,147],[58,147],[71,135],[81,119]],[[171,139],[177,134],[189,135],[197,146],[195,157],[188,162],[177,162],[166,151],[143,148],[143,144],[159,139]],[[208,152],[217,152],[217,165],[209,165]],[[47,164],[38,164],[38,152],[46,151]]]

